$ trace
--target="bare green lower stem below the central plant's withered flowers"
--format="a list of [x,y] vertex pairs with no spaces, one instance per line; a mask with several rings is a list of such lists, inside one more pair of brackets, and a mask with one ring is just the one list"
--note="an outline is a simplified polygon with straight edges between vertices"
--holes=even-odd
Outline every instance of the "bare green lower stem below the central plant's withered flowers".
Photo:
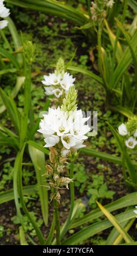
[[54,212],[55,212],[55,222],[56,222],[56,245],[61,245],[60,240],[60,215],[58,211],[57,200],[54,199]]

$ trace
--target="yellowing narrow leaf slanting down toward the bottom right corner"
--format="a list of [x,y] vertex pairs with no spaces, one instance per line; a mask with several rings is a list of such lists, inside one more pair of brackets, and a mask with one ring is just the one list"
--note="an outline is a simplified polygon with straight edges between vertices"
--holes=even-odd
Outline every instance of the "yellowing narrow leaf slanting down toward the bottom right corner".
[[123,229],[123,227],[120,225],[118,220],[116,220],[116,218],[112,214],[110,214],[110,212],[105,207],[103,207],[99,202],[96,202],[96,203],[99,206],[100,210],[103,212],[103,214],[108,218],[108,220],[114,225],[114,227],[122,235],[125,242],[127,243],[133,242],[131,236],[129,236],[129,234],[125,231],[125,229]]

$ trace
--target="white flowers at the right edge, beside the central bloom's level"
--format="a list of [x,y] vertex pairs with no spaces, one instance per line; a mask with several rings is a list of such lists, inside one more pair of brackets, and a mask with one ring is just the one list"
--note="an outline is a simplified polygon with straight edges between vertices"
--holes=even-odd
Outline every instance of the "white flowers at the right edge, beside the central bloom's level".
[[128,130],[128,125],[126,124],[121,124],[118,127],[119,134],[121,136],[126,137],[125,144],[127,148],[133,149],[137,145],[136,137],[137,137],[137,129],[133,130],[132,132]]

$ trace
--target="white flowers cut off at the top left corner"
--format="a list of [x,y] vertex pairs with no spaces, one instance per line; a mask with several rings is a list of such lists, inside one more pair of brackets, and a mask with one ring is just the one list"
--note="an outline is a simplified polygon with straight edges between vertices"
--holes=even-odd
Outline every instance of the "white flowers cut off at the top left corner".
[[[0,17],[5,18],[10,15],[10,10],[5,7],[4,0],[0,0]],[[3,29],[8,25],[8,21],[1,20],[0,21],[0,29]]]

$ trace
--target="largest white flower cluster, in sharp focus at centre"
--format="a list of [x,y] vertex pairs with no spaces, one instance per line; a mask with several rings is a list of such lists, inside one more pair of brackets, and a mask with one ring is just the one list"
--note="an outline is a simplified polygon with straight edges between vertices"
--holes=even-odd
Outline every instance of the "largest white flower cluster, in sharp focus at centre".
[[39,132],[43,133],[44,147],[54,147],[61,143],[62,157],[66,157],[70,149],[77,150],[83,147],[84,139],[90,127],[86,125],[89,118],[83,118],[81,110],[75,110],[68,114],[61,111],[60,107],[57,109],[49,108],[48,114],[43,114],[44,119],[40,122]]

